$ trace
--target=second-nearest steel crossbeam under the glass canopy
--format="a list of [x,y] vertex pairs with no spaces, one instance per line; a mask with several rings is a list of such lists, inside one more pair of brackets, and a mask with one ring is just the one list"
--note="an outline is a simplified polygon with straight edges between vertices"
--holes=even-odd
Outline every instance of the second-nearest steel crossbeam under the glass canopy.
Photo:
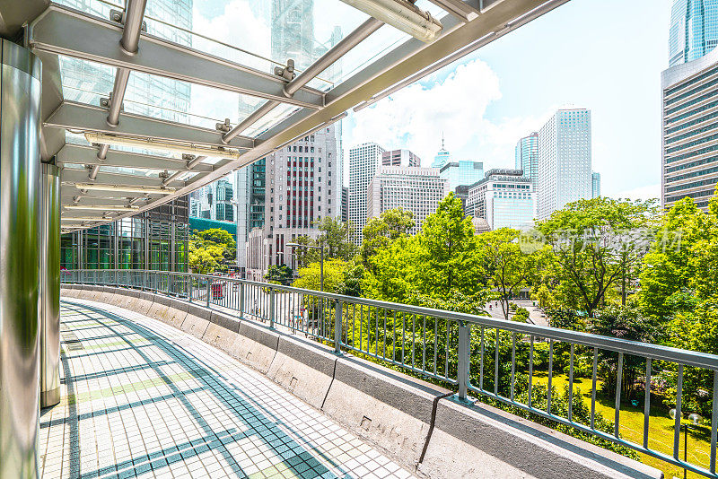
[[63,101],[62,105],[45,120],[45,126],[109,133],[113,135],[152,138],[155,140],[201,144],[212,147],[232,147],[249,150],[254,139],[247,136],[235,136],[228,144],[222,143],[221,132],[209,128],[189,126],[182,123],[144,117],[142,115],[122,115],[122,123],[117,128],[107,124],[107,110],[74,101]]

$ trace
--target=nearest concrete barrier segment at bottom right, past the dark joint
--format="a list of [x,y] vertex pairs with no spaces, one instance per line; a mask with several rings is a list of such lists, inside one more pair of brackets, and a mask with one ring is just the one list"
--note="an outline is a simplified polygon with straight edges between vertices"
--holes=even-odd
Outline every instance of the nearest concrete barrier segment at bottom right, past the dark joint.
[[489,405],[439,401],[418,470],[430,477],[649,479],[660,471]]

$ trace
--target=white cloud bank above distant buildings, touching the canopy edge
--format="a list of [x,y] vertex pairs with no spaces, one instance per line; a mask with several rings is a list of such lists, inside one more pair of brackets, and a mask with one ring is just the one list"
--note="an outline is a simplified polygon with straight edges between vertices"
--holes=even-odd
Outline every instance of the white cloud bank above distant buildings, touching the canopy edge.
[[422,166],[430,166],[443,134],[453,158],[484,161],[485,170],[510,168],[519,138],[536,131],[556,107],[538,117],[487,119],[486,110],[501,98],[494,71],[486,62],[472,60],[442,81],[430,76],[359,111],[346,128],[345,144],[408,148],[421,157]]

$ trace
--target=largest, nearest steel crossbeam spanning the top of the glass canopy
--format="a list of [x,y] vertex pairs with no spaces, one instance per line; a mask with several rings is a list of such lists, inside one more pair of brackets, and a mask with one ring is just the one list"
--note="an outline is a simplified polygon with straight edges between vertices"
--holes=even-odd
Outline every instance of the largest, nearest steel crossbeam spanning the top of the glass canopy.
[[86,13],[51,4],[31,22],[30,47],[145,74],[156,74],[188,83],[278,100],[283,103],[320,109],[324,93],[303,87],[293,97],[285,96],[285,79],[239,65],[194,48],[142,33],[142,48],[127,56],[118,48],[122,27]]

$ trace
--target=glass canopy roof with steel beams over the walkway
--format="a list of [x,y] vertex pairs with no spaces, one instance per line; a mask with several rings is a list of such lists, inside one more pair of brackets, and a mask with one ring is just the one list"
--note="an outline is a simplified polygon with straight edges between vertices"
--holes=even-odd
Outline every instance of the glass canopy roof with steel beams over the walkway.
[[363,0],[393,2],[388,24],[340,0],[57,0],[28,43],[59,58],[46,126],[65,129],[66,186],[136,177],[185,195],[567,1],[418,0],[442,23],[433,48],[393,22],[406,0]]

